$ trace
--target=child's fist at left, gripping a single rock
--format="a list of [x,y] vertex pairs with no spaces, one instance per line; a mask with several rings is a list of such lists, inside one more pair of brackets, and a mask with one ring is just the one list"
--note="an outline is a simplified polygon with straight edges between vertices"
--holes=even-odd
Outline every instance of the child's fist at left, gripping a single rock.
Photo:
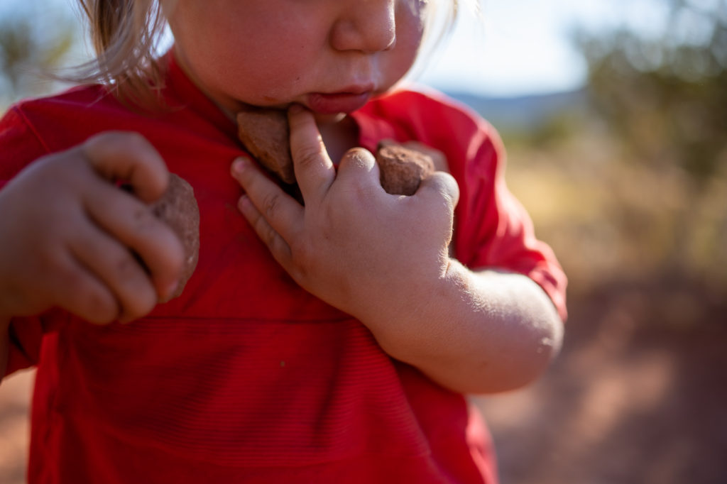
[[169,297],[184,250],[146,205],[168,177],[152,145],[125,132],[20,172],[0,190],[0,319],[61,307],[95,323],[129,321]]

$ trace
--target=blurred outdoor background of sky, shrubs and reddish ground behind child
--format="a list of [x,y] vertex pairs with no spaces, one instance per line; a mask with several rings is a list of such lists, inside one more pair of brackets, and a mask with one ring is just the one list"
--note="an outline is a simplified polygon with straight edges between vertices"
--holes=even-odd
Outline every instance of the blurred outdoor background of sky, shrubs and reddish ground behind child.
[[[727,483],[727,0],[481,0],[418,71],[502,134],[569,275],[563,352],[473,398],[503,484]],[[87,57],[66,0],[0,4],[0,110]],[[22,483],[32,371],[0,387]]]

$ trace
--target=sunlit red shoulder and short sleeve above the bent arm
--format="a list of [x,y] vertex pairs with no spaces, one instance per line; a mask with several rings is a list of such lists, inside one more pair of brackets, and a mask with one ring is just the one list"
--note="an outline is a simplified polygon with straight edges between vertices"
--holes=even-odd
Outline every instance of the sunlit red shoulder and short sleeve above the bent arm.
[[445,95],[401,89],[354,113],[364,147],[392,138],[440,150],[459,185],[454,257],[472,270],[498,268],[528,276],[566,318],[566,276],[529,214],[505,185],[505,149],[491,124]]

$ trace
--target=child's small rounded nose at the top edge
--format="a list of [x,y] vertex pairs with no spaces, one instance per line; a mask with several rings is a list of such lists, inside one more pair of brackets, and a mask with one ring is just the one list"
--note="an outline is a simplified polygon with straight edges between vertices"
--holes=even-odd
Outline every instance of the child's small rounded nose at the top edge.
[[395,0],[341,1],[341,14],[331,30],[337,50],[379,52],[396,43]]

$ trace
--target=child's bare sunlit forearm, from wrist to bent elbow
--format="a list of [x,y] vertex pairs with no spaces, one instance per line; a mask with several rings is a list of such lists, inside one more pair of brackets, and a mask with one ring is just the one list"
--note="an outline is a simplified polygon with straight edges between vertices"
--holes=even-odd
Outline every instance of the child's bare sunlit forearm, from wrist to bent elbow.
[[452,261],[443,278],[425,286],[415,309],[369,328],[391,356],[443,386],[463,393],[513,390],[536,379],[558,353],[563,323],[530,278],[473,273]]

